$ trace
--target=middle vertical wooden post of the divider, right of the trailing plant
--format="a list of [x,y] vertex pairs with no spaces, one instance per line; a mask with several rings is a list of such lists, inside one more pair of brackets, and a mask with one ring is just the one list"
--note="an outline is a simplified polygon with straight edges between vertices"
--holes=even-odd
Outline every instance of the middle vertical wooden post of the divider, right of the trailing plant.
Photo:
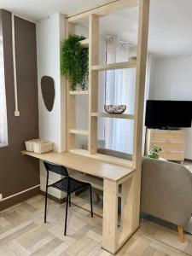
[[98,71],[91,71],[91,66],[98,65],[99,55],[99,17],[89,16],[89,152],[97,151],[97,119],[91,117],[97,112],[98,105]]

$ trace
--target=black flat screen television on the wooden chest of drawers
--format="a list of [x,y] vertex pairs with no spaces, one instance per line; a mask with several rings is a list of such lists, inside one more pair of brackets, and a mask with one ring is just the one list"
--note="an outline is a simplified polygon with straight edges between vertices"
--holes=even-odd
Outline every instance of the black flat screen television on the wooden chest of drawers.
[[145,125],[153,129],[191,127],[192,102],[147,101]]

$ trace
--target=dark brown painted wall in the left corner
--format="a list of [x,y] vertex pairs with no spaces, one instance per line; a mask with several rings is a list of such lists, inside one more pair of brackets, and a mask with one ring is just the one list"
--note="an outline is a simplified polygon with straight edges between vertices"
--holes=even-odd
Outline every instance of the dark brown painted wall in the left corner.
[[[15,52],[20,117],[15,117],[11,13],[0,10],[3,31],[9,145],[0,148],[0,193],[14,195],[39,184],[38,160],[20,155],[27,139],[38,137],[36,26],[15,17]],[[1,29],[0,29],[1,33]],[[1,34],[0,34],[1,36]],[[3,202],[0,202],[0,208]]]

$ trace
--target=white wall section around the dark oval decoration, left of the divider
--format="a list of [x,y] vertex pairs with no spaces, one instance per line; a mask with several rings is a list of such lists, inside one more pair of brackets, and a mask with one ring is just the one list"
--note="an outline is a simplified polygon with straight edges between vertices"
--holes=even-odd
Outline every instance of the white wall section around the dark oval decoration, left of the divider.
[[[38,113],[39,137],[54,143],[54,150],[65,151],[65,79],[60,72],[61,39],[65,38],[65,19],[63,15],[50,15],[49,18],[37,23],[37,51],[38,51]],[[55,103],[51,112],[44,106],[41,91],[41,78],[47,75],[55,81]],[[40,165],[41,189],[45,188],[45,170],[43,163]],[[55,181],[55,175],[50,179]],[[61,197],[60,191],[51,191],[49,194]]]

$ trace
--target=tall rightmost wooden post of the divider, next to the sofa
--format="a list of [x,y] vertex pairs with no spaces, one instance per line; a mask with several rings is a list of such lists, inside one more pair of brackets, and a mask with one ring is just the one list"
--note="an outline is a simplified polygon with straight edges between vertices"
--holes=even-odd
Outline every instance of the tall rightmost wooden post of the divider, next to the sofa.
[[136,168],[133,177],[132,199],[132,230],[139,226],[140,193],[141,193],[141,166],[142,166],[142,143],[143,143],[143,104],[145,75],[148,49],[148,17],[149,0],[139,0],[139,24],[137,42],[137,79],[135,98],[135,124],[133,143],[133,167]]

